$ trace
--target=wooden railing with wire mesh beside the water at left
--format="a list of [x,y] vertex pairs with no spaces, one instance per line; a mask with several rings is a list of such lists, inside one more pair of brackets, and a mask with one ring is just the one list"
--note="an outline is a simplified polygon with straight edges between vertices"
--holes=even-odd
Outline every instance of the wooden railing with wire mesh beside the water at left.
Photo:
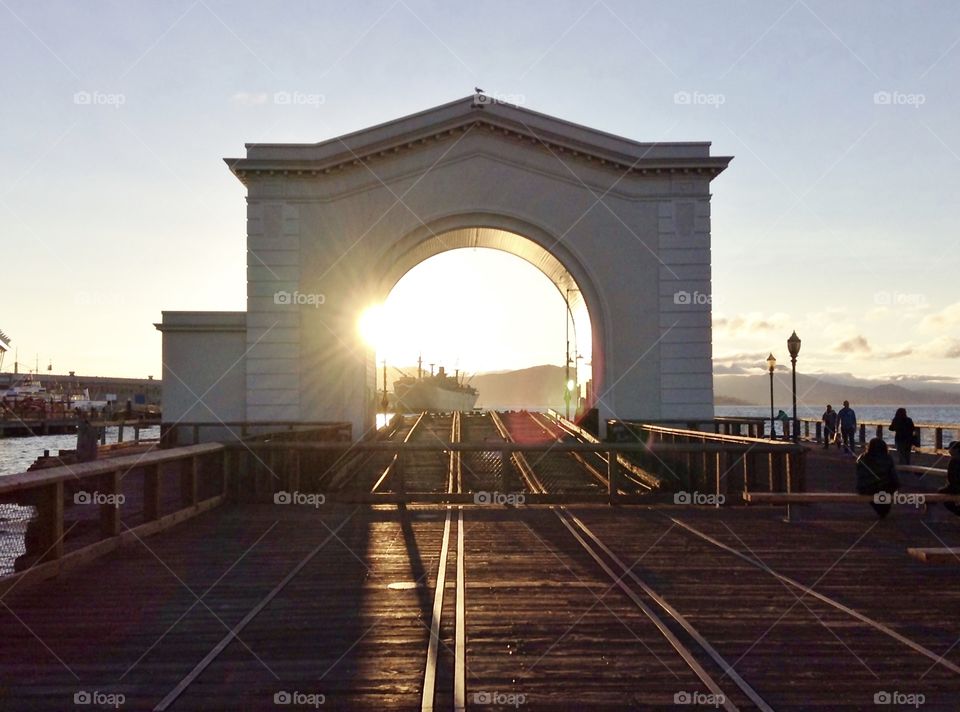
[[[0,593],[47,578],[224,500],[224,446],[207,443],[0,477],[0,506],[19,519],[5,535]],[[15,560],[11,560],[15,554]]]

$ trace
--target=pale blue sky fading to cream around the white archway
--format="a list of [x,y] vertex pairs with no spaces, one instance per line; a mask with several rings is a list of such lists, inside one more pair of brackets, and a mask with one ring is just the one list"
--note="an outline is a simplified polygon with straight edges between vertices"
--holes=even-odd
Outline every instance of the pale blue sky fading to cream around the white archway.
[[[222,157],[479,85],[736,156],[713,184],[722,364],[795,328],[811,370],[960,375],[954,2],[2,0],[0,59],[0,328],[23,361],[159,374],[161,309],[244,308],[244,191]],[[258,98],[275,92],[323,101]],[[561,362],[555,294],[517,289],[553,316],[503,338]]]

